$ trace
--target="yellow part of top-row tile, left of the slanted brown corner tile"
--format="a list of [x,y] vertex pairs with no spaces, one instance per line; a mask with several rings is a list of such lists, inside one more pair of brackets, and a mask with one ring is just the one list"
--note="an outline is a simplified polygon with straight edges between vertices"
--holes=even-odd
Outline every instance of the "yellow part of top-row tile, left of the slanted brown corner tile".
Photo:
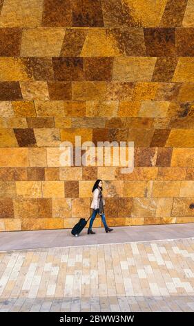
[[141,26],[155,27],[159,26],[167,0],[124,0],[124,3],[130,10],[130,15]]

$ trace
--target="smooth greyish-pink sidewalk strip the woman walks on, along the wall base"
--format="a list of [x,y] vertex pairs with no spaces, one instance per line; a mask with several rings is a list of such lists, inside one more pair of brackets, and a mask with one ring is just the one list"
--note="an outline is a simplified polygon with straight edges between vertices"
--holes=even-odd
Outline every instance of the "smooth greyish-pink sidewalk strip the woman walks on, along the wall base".
[[108,234],[104,228],[94,228],[93,230],[96,234],[88,235],[87,228],[85,228],[77,238],[72,236],[71,230],[2,232],[0,234],[0,251],[194,237],[194,223],[116,227],[113,232],[108,232]]

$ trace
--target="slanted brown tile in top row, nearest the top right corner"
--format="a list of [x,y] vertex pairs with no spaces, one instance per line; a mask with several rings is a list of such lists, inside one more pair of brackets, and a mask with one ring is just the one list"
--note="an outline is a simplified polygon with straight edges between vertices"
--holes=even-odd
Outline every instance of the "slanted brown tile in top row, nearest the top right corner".
[[182,27],[182,20],[186,9],[187,0],[168,0],[159,26]]

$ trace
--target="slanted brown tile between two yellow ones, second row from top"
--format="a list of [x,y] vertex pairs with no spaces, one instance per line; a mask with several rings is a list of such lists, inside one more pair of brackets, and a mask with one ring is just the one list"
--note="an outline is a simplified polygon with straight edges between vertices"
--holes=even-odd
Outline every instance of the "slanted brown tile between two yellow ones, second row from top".
[[86,29],[66,29],[64,44],[61,47],[60,56],[77,57],[81,55],[81,50],[88,35]]

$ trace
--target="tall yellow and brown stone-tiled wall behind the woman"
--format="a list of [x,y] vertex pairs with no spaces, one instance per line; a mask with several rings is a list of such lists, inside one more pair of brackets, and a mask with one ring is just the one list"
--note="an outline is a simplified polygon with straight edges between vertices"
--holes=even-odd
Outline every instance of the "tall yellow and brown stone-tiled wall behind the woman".
[[[194,222],[194,0],[0,0],[0,230]],[[134,141],[135,169],[59,164]],[[99,217],[95,226],[100,226]]]

